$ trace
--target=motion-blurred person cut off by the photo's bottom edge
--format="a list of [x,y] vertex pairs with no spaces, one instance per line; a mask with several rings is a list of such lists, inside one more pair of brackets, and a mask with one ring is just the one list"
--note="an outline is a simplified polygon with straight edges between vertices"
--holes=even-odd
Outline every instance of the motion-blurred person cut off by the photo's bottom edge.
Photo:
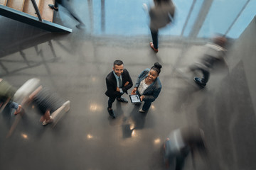
[[182,170],[186,157],[191,153],[193,166],[194,157],[198,151],[201,157],[208,161],[204,132],[200,128],[180,128],[172,131],[164,143],[164,163],[166,169]]

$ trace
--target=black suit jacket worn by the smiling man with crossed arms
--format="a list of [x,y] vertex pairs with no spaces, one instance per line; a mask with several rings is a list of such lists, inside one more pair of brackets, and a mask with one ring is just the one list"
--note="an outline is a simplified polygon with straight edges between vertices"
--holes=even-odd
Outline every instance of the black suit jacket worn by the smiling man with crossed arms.
[[[121,74],[122,77],[122,91],[124,91],[127,94],[127,90],[132,87],[132,79],[129,76],[129,72],[127,69],[124,69],[124,72]],[[124,86],[126,82],[129,82],[127,86]],[[117,91],[117,79],[114,77],[114,73],[110,72],[110,74],[107,74],[106,77],[106,84],[107,84],[107,91],[106,95],[111,98],[116,98],[117,96],[121,96],[122,94]]]

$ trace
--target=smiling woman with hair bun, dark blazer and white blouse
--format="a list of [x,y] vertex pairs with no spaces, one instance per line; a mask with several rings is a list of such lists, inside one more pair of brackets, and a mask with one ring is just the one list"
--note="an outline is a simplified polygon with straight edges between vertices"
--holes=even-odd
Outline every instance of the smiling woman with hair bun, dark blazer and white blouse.
[[159,74],[161,72],[161,64],[156,62],[151,69],[144,69],[144,71],[139,74],[136,81],[132,94],[138,94],[141,101],[144,101],[144,105],[139,112],[144,113],[148,111],[151,103],[156,100],[161,91],[161,82],[159,80]]

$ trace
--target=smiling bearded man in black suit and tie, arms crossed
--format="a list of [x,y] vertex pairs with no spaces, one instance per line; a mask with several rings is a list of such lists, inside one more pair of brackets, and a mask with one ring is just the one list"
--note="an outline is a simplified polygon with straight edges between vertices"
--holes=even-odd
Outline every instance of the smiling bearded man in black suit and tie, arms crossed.
[[132,87],[132,79],[129,76],[127,69],[124,69],[124,64],[121,60],[114,61],[113,71],[107,74],[106,77],[107,91],[106,95],[109,97],[107,111],[112,118],[115,118],[112,110],[112,103],[117,98],[117,101],[128,103],[127,99],[121,96]]

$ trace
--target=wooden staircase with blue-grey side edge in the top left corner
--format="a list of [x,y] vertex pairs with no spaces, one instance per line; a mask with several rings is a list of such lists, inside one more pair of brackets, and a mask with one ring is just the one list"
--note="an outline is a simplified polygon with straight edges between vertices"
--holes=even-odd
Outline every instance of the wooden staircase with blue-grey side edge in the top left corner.
[[[33,4],[34,2],[34,4]],[[0,15],[53,33],[71,33],[72,29],[53,23],[55,0],[0,0]]]

